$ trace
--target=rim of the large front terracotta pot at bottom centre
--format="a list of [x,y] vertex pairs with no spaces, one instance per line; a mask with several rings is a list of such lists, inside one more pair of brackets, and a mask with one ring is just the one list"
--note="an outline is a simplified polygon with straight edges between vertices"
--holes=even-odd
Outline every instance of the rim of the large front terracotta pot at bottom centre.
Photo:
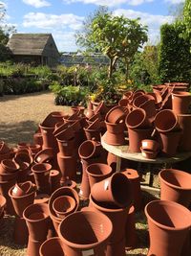
[[[68,241],[67,239],[65,239],[62,236],[60,229],[61,229],[61,226],[62,226],[63,222],[68,221],[68,219],[70,219],[74,215],[90,215],[90,214],[93,214],[95,216],[97,215],[99,217],[100,221],[101,220],[106,221],[107,222],[106,223],[107,228],[110,225],[110,228],[108,228],[109,229],[108,236],[106,238],[104,238],[101,242],[99,241],[99,242],[92,243],[92,244],[75,244],[73,242]],[[91,248],[96,247],[98,244],[103,244],[105,241],[107,241],[110,238],[110,236],[113,232],[113,224],[112,224],[112,221],[110,221],[110,219],[106,215],[104,215],[103,213],[100,213],[100,212],[94,212],[94,211],[89,211],[89,210],[88,211],[82,211],[82,212],[74,212],[74,213],[68,215],[64,220],[62,220],[60,222],[57,232],[58,232],[59,238],[64,242],[64,244],[67,244],[68,246],[78,248],[78,249],[91,249]]]

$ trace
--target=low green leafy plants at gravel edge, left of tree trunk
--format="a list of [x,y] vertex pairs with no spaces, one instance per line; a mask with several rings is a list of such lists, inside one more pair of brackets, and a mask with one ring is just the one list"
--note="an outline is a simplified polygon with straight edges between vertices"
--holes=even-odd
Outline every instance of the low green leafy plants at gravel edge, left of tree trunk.
[[49,88],[55,94],[55,105],[84,105],[86,103],[87,87],[63,86],[58,81],[54,81]]

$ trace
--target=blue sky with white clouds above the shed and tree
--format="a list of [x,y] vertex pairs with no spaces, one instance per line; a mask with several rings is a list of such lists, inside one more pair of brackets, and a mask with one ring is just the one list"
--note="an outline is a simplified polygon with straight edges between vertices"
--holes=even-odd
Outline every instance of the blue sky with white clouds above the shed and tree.
[[141,18],[148,25],[150,43],[159,40],[159,27],[173,20],[169,10],[184,0],[4,0],[7,22],[18,33],[52,33],[59,51],[75,51],[74,34],[99,5],[116,15]]

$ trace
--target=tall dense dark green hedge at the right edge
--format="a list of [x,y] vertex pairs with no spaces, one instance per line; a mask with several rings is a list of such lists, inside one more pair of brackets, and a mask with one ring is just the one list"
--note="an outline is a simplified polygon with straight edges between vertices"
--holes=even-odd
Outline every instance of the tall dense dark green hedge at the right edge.
[[160,28],[159,74],[161,81],[191,81],[191,53],[180,22]]

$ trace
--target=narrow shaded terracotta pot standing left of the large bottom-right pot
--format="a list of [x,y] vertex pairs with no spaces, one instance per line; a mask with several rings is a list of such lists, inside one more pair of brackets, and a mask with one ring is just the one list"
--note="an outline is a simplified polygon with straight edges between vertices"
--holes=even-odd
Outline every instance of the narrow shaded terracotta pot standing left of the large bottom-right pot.
[[138,238],[136,234],[135,207],[131,206],[128,211],[125,224],[125,247],[127,250],[134,249],[137,246]]

